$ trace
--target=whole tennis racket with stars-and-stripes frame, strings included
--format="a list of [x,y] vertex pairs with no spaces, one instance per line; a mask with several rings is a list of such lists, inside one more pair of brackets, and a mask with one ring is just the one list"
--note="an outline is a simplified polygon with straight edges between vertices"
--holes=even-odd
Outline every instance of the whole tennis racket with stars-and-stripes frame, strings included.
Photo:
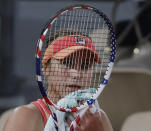
[[49,19],[36,48],[36,77],[57,131],[56,110],[83,110],[70,125],[75,130],[108,83],[115,54],[115,33],[102,11],[74,5]]

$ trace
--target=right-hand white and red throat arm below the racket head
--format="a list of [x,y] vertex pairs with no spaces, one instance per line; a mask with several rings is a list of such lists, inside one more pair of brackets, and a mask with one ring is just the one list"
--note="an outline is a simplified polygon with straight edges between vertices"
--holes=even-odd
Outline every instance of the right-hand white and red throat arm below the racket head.
[[75,131],[75,128],[77,126],[77,124],[79,123],[79,121],[81,120],[81,118],[83,117],[83,115],[85,114],[85,112],[88,110],[89,107],[84,108],[83,110],[81,110],[77,116],[77,118],[72,121],[69,131]]

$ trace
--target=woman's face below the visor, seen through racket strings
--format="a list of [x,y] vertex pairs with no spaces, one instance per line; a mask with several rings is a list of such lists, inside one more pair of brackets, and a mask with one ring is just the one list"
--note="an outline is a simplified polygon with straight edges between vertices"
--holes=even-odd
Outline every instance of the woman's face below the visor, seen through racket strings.
[[45,69],[48,95],[55,103],[64,96],[91,85],[94,57],[88,52],[74,53],[63,60],[51,59]]

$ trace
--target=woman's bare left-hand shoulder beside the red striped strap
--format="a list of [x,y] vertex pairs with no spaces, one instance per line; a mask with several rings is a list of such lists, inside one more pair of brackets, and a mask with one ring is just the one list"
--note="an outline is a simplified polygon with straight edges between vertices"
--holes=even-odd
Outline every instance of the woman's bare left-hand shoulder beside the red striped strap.
[[33,105],[23,105],[15,108],[9,116],[4,131],[40,131],[43,128],[43,119],[39,110]]

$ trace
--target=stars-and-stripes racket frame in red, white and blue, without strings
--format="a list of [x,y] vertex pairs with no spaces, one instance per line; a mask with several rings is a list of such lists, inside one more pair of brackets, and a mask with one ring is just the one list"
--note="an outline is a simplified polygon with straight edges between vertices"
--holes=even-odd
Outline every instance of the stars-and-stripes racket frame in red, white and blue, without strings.
[[[58,19],[58,17],[63,15],[65,12],[71,11],[71,10],[74,10],[74,9],[92,10],[93,12],[96,12],[97,14],[100,15],[101,18],[104,19],[106,25],[108,26],[108,30],[110,31],[110,35],[111,35],[111,39],[110,39],[111,55],[110,55],[110,63],[108,64],[108,68],[106,70],[104,79],[102,80],[102,82],[100,84],[100,88],[98,88],[96,94],[93,95],[90,100],[88,100],[86,103],[84,103],[80,107],[66,109],[66,108],[58,107],[56,104],[51,102],[50,99],[48,98],[47,93],[46,93],[45,88],[44,88],[44,85],[42,83],[41,68],[40,68],[40,66],[41,66],[40,65],[40,63],[41,63],[40,57],[41,57],[42,46],[44,44],[44,40],[45,40],[45,37],[46,37],[46,34],[47,34],[48,30],[52,27],[53,23]],[[115,61],[115,54],[116,54],[116,38],[115,38],[114,29],[112,27],[112,24],[111,24],[110,20],[108,19],[108,17],[103,12],[97,10],[96,8],[85,6],[85,5],[72,6],[72,7],[65,8],[65,9],[61,10],[60,12],[58,12],[58,14],[55,17],[50,19],[48,24],[43,29],[43,31],[41,33],[41,36],[40,36],[40,39],[38,40],[38,43],[37,43],[36,56],[35,56],[35,58],[36,58],[37,83],[38,83],[38,86],[39,86],[39,89],[40,89],[40,92],[41,92],[42,96],[44,97],[45,101],[50,105],[50,108],[51,108],[51,106],[53,106],[55,109],[63,111],[63,112],[74,112],[74,111],[78,111],[80,109],[83,109],[83,108],[85,108],[89,105],[92,105],[94,103],[95,99],[97,99],[97,97],[103,91],[105,85],[108,83],[108,79],[110,77],[111,70],[113,68],[114,61]],[[53,112],[53,116],[54,116],[53,118],[54,118],[55,123],[57,123],[57,118],[55,117],[56,116],[55,112]],[[75,120],[75,122],[73,122],[74,124],[70,126],[70,131],[74,131],[75,126],[79,121],[80,121],[80,116],[78,116],[77,119]],[[56,126],[56,130],[58,131],[57,124],[55,124],[55,126]]]

